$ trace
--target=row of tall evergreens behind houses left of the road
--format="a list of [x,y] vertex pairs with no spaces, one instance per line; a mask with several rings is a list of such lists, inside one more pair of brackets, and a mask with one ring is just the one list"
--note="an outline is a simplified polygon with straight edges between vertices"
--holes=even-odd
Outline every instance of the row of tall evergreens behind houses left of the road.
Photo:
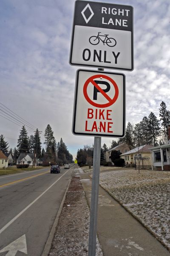
[[28,136],[25,125],[20,130],[20,134],[17,140],[17,146],[12,149],[9,148],[8,142],[5,141],[3,134],[0,135],[0,150],[3,153],[11,153],[14,159],[14,163],[17,162],[17,158],[21,153],[32,153],[36,154],[38,159],[42,159],[44,164],[64,164],[73,162],[73,156],[67,149],[67,146],[63,142],[62,138],[57,143],[54,137],[54,132],[52,131],[51,126],[48,124],[45,132],[45,149],[42,147],[42,142],[40,134],[42,131],[36,129],[34,135]]

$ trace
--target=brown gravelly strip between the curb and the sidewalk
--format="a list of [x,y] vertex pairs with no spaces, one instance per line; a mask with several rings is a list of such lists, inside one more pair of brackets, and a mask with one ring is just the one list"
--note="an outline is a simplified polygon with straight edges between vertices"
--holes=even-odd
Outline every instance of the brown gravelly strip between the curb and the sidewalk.
[[[77,170],[73,171],[48,256],[87,256],[89,207]],[[99,242],[96,255],[102,256]]]

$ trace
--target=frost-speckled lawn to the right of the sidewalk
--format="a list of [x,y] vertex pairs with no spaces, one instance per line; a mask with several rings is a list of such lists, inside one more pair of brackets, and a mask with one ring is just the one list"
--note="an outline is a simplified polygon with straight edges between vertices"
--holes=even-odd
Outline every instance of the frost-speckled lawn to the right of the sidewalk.
[[100,185],[170,249],[170,172],[106,171],[100,174]]

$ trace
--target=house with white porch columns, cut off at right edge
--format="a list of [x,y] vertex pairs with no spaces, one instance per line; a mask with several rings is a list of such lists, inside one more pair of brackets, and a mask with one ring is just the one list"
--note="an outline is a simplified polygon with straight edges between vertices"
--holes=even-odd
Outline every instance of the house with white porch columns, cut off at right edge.
[[170,127],[168,128],[167,143],[151,147],[152,170],[170,171]]

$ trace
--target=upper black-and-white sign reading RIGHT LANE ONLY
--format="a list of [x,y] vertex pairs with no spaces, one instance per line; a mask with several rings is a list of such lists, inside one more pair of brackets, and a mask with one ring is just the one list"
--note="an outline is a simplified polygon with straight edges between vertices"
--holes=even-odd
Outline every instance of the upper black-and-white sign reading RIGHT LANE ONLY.
[[70,64],[133,70],[133,7],[77,0]]

